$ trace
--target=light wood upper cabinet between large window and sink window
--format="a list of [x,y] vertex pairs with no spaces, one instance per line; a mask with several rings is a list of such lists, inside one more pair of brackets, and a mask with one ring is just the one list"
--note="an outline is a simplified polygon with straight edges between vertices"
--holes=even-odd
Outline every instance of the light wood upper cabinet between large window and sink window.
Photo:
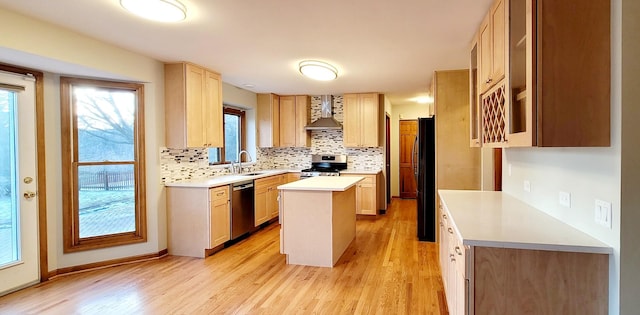
[[166,145],[222,147],[220,74],[191,63],[164,66]]

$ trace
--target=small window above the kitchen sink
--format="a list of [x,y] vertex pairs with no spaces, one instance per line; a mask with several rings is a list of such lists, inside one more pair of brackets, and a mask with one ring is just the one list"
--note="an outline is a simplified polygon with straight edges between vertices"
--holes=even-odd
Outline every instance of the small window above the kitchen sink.
[[224,147],[209,149],[209,164],[237,161],[238,152],[244,147],[244,140],[244,111],[225,107]]

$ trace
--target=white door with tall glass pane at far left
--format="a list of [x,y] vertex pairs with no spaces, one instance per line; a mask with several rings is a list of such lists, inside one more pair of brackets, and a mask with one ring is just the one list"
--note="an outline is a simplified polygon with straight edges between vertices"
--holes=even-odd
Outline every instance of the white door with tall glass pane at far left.
[[37,283],[35,80],[0,72],[0,295]]

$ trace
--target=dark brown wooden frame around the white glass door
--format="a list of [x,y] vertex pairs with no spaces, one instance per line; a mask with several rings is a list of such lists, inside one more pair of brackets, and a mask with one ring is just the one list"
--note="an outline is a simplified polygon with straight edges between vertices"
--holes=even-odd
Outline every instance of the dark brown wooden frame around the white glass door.
[[36,79],[36,159],[38,173],[38,243],[40,282],[49,280],[47,250],[47,185],[44,145],[44,74],[40,71],[0,63],[0,70],[16,74],[31,74]]

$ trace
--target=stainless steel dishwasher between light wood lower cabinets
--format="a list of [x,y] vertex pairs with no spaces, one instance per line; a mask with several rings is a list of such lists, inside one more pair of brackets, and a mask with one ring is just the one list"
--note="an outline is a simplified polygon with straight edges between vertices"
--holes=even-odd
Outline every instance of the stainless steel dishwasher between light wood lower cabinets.
[[254,227],[253,180],[234,183],[231,194],[231,239],[236,239]]

